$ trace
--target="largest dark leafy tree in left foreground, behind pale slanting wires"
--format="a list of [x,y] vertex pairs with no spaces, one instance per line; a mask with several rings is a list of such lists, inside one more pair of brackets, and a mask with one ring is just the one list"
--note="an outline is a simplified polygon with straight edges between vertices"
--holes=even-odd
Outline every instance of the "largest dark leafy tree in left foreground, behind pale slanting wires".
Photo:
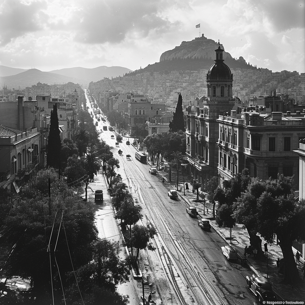
[[[37,178],[35,180],[32,185],[37,184]],[[61,273],[65,274],[72,271],[70,255],[75,268],[88,263],[90,244],[97,239],[92,208],[79,200],[74,188],[68,188],[57,179],[51,181],[51,199],[48,199],[48,191],[45,192],[48,189],[47,179],[42,179],[43,188],[36,191],[38,197],[29,198],[21,194],[18,207],[11,210],[2,229],[4,241],[12,245],[16,243],[13,255],[6,262],[5,276],[30,278],[38,294],[49,296],[50,277],[45,275],[50,272],[50,257],[54,271],[56,255]],[[62,224],[59,230],[62,220],[64,226]],[[54,231],[51,233],[53,224]],[[73,249],[70,255],[67,244]]]

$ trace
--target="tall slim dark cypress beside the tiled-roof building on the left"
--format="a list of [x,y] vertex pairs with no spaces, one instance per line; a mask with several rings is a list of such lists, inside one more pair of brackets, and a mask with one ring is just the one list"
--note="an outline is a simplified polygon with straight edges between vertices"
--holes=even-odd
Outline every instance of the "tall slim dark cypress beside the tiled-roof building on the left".
[[58,124],[57,104],[55,103],[55,105],[53,105],[53,110],[51,110],[51,117],[50,117],[47,166],[59,168],[60,149],[61,149],[61,140],[60,140],[60,131]]

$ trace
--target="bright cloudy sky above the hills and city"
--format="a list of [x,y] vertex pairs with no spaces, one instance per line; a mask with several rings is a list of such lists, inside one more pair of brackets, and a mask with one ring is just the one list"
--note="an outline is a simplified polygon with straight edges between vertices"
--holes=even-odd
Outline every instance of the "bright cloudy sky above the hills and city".
[[205,37],[273,72],[305,72],[305,0],[0,0],[0,65],[51,71],[160,61]]

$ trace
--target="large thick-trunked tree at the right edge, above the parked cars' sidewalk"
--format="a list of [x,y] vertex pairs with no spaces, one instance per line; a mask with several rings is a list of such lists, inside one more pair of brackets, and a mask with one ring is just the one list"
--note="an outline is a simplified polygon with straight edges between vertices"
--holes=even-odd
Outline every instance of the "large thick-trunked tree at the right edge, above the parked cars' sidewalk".
[[294,201],[293,191],[292,177],[278,174],[276,180],[252,179],[234,206],[236,221],[244,224],[248,232],[259,233],[268,243],[273,243],[277,236],[283,253],[285,284],[300,280],[292,242],[305,239],[305,200]]

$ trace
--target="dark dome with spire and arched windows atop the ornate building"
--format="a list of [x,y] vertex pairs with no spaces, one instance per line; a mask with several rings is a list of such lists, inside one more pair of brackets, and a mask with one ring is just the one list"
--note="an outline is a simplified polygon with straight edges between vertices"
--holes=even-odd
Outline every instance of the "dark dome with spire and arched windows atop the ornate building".
[[222,52],[224,50],[220,47],[219,41],[215,52],[215,63],[206,74],[207,96],[210,98],[220,97],[222,99],[218,99],[218,101],[227,101],[225,98],[232,98],[233,74],[224,63],[224,59],[222,59]]

